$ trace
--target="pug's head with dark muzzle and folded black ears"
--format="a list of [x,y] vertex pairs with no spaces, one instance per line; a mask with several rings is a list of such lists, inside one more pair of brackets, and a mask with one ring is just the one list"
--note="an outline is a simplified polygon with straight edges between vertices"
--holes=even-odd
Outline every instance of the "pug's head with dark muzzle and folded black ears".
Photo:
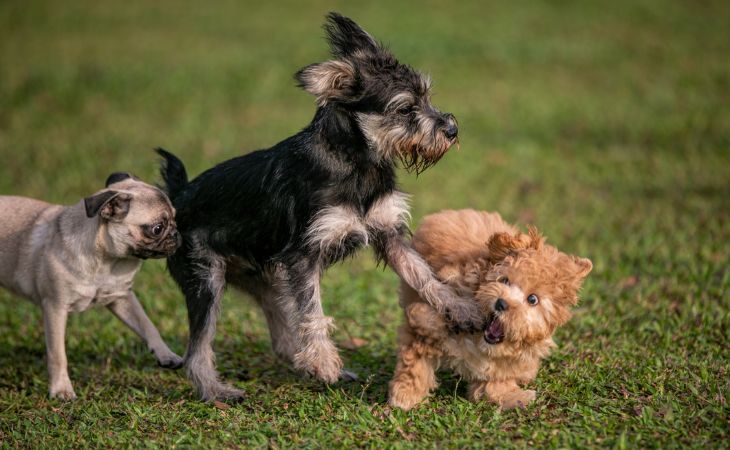
[[110,256],[165,258],[182,242],[167,195],[129,173],[109,175],[106,189],[85,198],[84,206],[89,219],[98,218],[97,245]]

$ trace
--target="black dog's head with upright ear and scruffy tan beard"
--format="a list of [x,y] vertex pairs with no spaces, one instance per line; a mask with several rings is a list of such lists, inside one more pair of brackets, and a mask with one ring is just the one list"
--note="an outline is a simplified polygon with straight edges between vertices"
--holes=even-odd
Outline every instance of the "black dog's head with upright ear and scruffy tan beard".
[[457,142],[453,115],[431,105],[430,80],[400,64],[352,20],[337,13],[324,26],[333,60],[296,74],[301,87],[353,117],[376,158],[398,158],[420,172]]

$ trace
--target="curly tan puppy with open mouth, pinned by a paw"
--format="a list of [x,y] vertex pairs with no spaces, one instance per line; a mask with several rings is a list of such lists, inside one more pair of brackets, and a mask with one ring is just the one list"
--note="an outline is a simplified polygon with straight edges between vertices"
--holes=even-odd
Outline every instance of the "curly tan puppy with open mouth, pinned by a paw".
[[[451,333],[446,320],[401,283],[406,321],[398,335],[391,406],[408,410],[420,403],[437,386],[442,366],[468,380],[471,401],[510,409],[535,399],[535,391],[520,386],[535,379],[540,360],[555,346],[553,332],[570,318],[592,268],[590,260],[544,241],[535,228],[522,233],[496,213],[443,211],[424,219],[414,248],[441,281],[499,322],[503,340],[490,344],[488,331]],[[538,296],[538,304],[528,303],[530,294]]]

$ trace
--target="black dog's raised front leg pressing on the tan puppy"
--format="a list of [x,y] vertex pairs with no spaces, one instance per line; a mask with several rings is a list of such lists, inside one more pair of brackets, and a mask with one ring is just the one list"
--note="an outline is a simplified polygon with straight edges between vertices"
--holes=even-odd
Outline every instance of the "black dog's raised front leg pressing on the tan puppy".
[[376,252],[418,295],[443,314],[455,331],[476,331],[484,325],[484,317],[475,302],[465,301],[446,284],[440,282],[431,267],[405,238],[405,230],[380,231]]

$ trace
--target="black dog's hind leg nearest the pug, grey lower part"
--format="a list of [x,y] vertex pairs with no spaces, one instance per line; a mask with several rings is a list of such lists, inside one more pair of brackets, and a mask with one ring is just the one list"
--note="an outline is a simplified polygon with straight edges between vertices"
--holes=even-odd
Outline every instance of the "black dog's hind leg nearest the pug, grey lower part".
[[190,324],[185,369],[205,401],[239,400],[240,391],[218,380],[213,353],[218,311],[225,287],[225,262],[216,255],[193,259],[183,249],[168,259],[170,273],[185,294]]

